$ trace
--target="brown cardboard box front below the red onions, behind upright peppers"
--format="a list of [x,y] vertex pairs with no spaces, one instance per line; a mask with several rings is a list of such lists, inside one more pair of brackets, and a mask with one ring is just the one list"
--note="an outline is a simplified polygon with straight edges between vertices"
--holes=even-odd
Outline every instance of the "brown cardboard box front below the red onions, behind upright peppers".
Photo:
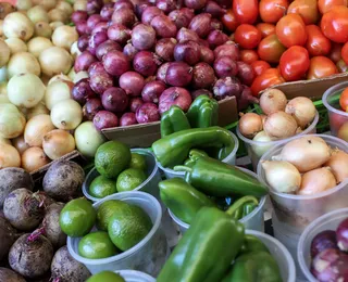
[[[234,97],[219,101],[219,125],[226,126],[238,119],[237,101]],[[149,148],[161,138],[160,121],[127,127],[103,129],[109,140],[117,140],[130,148]]]

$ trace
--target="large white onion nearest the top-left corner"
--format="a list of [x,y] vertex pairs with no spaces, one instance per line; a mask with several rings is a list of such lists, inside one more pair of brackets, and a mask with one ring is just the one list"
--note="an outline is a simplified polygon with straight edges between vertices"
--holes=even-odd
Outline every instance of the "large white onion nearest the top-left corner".
[[27,41],[34,34],[34,25],[26,15],[14,12],[3,20],[3,34],[7,38],[16,37]]

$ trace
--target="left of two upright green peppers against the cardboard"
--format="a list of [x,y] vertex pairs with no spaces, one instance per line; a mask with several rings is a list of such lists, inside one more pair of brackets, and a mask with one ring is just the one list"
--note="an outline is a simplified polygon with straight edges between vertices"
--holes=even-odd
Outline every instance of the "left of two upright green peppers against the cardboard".
[[172,105],[161,117],[161,138],[189,128],[184,111],[177,105]]

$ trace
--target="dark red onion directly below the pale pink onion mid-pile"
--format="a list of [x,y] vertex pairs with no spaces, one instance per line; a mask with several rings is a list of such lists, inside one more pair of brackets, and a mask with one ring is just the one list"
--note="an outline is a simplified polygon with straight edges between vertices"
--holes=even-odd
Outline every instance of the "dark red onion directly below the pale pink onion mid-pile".
[[148,77],[153,76],[161,61],[156,54],[149,51],[138,52],[133,60],[133,68],[140,75]]

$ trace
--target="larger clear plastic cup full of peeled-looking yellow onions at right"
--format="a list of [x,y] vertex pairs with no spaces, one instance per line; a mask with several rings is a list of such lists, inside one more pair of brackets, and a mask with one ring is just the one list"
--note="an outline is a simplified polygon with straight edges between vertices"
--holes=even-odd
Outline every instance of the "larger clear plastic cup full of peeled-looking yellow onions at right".
[[301,233],[318,217],[347,206],[348,144],[326,134],[298,136],[275,145],[258,165],[284,228]]

